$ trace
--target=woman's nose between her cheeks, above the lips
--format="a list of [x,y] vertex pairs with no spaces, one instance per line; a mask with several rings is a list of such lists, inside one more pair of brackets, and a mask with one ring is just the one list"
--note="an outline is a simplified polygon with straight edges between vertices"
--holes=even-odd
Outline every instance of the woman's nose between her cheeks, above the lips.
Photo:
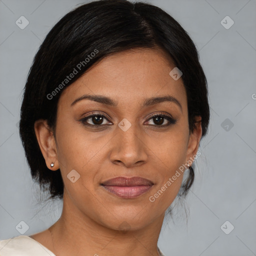
[[126,131],[117,127],[116,132],[111,140],[110,161],[127,168],[144,164],[148,158],[148,147],[143,141],[143,131],[131,125]]

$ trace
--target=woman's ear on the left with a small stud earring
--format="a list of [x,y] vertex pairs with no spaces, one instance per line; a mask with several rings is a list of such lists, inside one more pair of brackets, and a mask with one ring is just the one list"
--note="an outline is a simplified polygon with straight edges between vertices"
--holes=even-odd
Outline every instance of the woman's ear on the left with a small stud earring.
[[[57,160],[56,143],[53,131],[48,126],[47,120],[36,120],[34,122],[34,131],[47,167],[51,170],[57,170],[59,164]],[[54,163],[53,167],[50,166],[51,163]]]

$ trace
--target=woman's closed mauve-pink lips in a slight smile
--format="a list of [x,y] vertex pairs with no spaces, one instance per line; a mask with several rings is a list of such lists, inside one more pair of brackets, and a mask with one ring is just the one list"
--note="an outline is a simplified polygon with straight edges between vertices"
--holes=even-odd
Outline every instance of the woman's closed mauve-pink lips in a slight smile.
[[142,177],[115,177],[100,183],[108,192],[121,198],[134,198],[146,193],[154,183]]

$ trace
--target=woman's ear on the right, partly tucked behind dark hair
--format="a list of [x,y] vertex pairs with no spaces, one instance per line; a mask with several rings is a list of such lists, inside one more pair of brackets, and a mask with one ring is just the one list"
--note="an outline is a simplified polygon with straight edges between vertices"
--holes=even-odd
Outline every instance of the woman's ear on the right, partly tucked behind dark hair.
[[[195,116],[195,123],[194,123],[194,130],[189,135],[189,140],[187,144],[187,151],[186,151],[186,162],[192,162],[194,160],[194,155],[199,147],[199,142],[202,136],[202,127],[201,127],[201,116]],[[190,161],[189,161],[190,160]],[[191,165],[191,163],[189,163]]]

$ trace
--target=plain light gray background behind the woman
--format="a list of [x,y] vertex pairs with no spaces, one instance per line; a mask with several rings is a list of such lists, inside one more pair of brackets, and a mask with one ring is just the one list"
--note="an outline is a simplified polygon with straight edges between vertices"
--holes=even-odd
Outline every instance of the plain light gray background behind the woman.
[[[0,0],[0,239],[20,235],[15,226],[21,220],[30,235],[60,216],[61,201],[37,203],[39,188],[16,123],[34,54],[50,28],[82,2]],[[164,219],[158,246],[166,256],[256,255],[256,1],[148,2],[171,14],[195,42],[211,107],[195,183],[184,202],[187,223],[184,207],[177,205],[173,219]],[[15,24],[21,15],[29,21],[24,29]],[[220,23],[226,15],[234,21],[229,29]],[[220,228],[226,220],[234,226],[229,234]],[[230,224],[224,227],[228,231]]]

